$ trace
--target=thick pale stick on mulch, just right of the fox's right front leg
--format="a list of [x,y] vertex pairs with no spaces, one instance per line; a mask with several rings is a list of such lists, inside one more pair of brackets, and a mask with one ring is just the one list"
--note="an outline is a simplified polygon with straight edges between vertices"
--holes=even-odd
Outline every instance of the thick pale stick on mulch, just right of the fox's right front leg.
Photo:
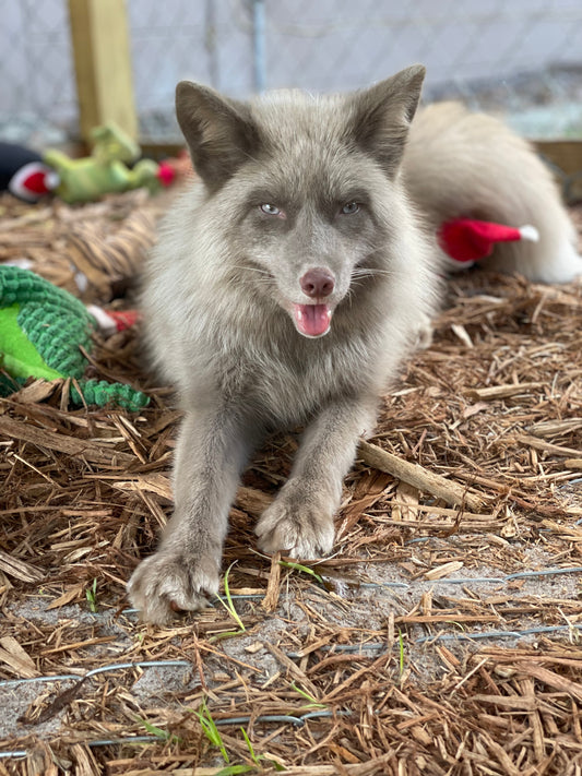
[[472,512],[479,512],[485,502],[473,493],[468,493],[466,489],[446,479],[433,471],[423,468],[418,464],[411,464],[408,461],[403,461],[392,453],[388,453],[377,444],[360,441],[358,455],[368,466],[385,471],[392,477],[407,482],[408,485],[418,488],[425,493],[436,496],[442,499],[450,506],[466,506]]

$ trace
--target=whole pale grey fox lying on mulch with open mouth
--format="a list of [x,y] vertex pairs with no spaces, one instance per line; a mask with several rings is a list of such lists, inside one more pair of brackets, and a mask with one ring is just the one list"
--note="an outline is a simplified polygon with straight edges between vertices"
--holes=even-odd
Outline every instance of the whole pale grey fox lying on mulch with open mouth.
[[470,216],[535,224],[485,264],[543,283],[582,273],[551,174],[498,119],[418,110],[415,64],[340,95],[241,102],[182,81],[176,114],[195,177],[143,279],[145,339],[183,411],[174,514],[128,583],[166,624],[217,593],[239,478],[268,434],[304,429],[258,546],[332,551],[343,478],[379,403],[439,307],[436,235]]

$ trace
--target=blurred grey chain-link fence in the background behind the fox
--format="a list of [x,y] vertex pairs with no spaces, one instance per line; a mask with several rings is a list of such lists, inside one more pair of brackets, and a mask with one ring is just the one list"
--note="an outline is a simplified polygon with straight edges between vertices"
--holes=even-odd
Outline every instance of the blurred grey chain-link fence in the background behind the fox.
[[[412,62],[425,99],[502,110],[530,136],[582,138],[580,0],[126,0],[142,136],[178,138],[180,79],[245,97],[370,84]],[[74,135],[66,0],[0,0],[0,138]],[[26,135],[26,136],[23,136]]]

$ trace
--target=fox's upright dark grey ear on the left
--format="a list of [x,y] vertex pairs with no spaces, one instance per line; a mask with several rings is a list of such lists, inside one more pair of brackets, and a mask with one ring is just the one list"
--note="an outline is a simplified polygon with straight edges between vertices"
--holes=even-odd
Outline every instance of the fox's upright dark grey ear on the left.
[[223,186],[259,143],[244,103],[190,81],[176,87],[176,116],[195,171],[211,191]]

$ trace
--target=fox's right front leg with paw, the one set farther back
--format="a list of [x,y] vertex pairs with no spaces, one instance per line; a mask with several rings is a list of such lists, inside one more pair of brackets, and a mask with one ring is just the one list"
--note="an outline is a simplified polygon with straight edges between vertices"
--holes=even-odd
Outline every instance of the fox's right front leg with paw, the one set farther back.
[[262,550],[287,550],[295,558],[331,551],[343,479],[359,437],[375,420],[375,402],[342,401],[320,413],[305,432],[289,479],[257,524]]

